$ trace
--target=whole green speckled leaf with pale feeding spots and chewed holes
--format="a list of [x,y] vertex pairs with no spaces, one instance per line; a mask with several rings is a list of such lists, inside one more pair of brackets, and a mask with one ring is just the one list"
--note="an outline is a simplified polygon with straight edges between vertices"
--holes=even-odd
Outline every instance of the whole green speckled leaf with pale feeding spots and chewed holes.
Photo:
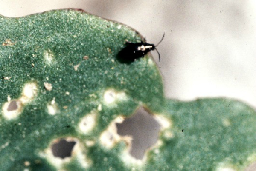
[[[0,16],[0,28],[1,170],[240,170],[255,161],[255,111],[165,100],[150,57],[116,60],[125,40],[141,39],[131,28],[74,9]],[[141,161],[106,131],[139,106],[171,123]],[[71,157],[52,155],[61,139],[76,142]]]

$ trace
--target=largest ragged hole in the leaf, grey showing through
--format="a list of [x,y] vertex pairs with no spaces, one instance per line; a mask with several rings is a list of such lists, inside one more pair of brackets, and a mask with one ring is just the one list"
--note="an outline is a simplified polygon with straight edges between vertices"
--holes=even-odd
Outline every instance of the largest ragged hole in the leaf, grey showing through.
[[143,159],[145,151],[157,142],[160,124],[152,114],[139,108],[134,116],[116,123],[117,133],[133,137],[130,154],[136,159]]

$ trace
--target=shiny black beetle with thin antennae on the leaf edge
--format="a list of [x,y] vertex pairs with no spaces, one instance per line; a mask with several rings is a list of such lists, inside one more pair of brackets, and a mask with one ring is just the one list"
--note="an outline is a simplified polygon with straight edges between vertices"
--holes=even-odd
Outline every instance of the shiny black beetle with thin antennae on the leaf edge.
[[[164,34],[163,34],[164,37]],[[160,40],[157,45],[146,43],[141,41],[140,43],[131,43],[131,42],[126,42],[125,48],[123,48],[119,54],[118,54],[118,60],[121,63],[132,63],[134,60],[144,57],[145,54],[147,54],[149,51],[156,50],[157,51],[157,46],[162,42],[163,40]],[[159,61],[160,61],[160,54],[157,51],[158,56],[159,56]]]

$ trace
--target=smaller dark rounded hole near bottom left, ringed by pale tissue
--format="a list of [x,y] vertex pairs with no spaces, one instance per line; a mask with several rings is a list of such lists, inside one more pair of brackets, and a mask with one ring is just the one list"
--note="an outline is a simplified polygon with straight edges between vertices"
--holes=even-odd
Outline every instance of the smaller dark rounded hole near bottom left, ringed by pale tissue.
[[60,157],[62,159],[71,157],[71,153],[75,145],[75,141],[67,141],[65,139],[61,139],[52,145],[52,154],[53,156]]

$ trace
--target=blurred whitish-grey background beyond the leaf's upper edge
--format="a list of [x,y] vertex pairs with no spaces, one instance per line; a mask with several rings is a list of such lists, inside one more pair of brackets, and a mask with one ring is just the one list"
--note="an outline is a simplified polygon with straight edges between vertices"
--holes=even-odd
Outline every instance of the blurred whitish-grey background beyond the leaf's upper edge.
[[0,14],[21,17],[81,8],[140,32],[163,74],[168,98],[230,97],[256,108],[254,0],[1,0]]

